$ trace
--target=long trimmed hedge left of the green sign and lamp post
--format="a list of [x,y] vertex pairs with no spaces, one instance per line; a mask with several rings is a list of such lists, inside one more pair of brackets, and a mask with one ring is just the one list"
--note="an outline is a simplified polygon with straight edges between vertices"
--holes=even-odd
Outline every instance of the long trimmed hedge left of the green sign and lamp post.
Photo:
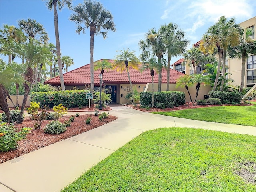
[[32,102],[39,102],[40,107],[46,105],[49,108],[53,108],[62,103],[63,106],[72,108],[89,105],[86,93],[88,93],[88,90],[32,92],[30,97]]

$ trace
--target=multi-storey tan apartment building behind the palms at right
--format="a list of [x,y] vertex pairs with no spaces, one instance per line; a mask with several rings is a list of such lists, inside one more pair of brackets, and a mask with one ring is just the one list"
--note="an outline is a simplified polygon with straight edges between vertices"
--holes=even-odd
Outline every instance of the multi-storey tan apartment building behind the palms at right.
[[[255,35],[255,26],[256,26],[256,17],[250,18],[242,23],[240,23],[242,28],[250,28],[253,30],[252,39],[256,40]],[[198,47],[200,41],[196,42],[193,47]],[[241,67],[242,67],[242,59],[230,59],[228,56],[226,57],[226,65],[228,66],[228,74],[227,78],[233,79],[234,83],[232,85],[238,86],[241,83]],[[179,59],[178,61],[172,64],[173,69],[179,72],[182,72],[187,75],[191,75],[194,73],[193,67],[188,66],[184,63],[184,58]],[[196,73],[202,73],[204,70],[202,65],[196,66]],[[256,55],[250,55],[246,59],[246,71],[245,71],[245,80],[244,87],[254,87],[256,85]]]

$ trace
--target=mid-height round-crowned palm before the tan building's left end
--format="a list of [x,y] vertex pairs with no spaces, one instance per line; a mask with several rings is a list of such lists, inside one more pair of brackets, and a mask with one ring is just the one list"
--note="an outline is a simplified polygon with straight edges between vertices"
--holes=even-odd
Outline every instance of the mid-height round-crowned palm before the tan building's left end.
[[194,73],[196,74],[196,65],[202,60],[202,53],[198,48],[191,48],[187,50],[184,56],[184,62],[188,62],[188,66],[193,66]]

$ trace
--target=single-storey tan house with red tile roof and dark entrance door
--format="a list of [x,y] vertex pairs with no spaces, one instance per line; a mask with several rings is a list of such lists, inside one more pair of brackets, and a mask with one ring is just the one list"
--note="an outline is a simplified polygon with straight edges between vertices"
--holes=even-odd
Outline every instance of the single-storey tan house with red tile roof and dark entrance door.
[[[99,62],[102,61],[95,61]],[[114,63],[114,60],[106,59],[110,63]],[[143,91],[152,91],[152,77],[150,76],[150,70],[144,70],[140,72],[139,70],[135,70],[132,67],[128,66],[130,79],[132,82],[133,88],[136,88],[138,92]],[[94,86],[95,90],[99,90],[100,87],[100,79],[99,74],[101,73],[101,69],[94,71]],[[186,95],[186,102],[190,101],[187,90],[185,88],[178,87],[176,88],[176,81],[181,76],[185,74],[178,72],[176,70],[170,69],[170,86],[169,90],[174,91],[183,91]],[[84,89],[86,86],[90,86],[90,64],[84,65],[75,70],[69,71],[63,74],[64,84],[66,90],[72,90],[74,87],[79,89]],[[45,84],[51,84],[52,86],[60,86],[60,77],[54,77],[46,82]],[[166,91],[166,83],[167,83],[167,70],[162,68],[162,87],[161,91]],[[106,92],[111,94],[112,102],[127,104],[129,101],[125,99],[125,96],[128,92],[131,92],[130,83],[128,80],[128,75],[126,70],[122,73],[116,71],[116,69],[104,69],[103,77],[102,77],[102,89],[106,90]],[[154,91],[158,89],[158,74],[154,73]],[[190,94],[192,97],[196,95],[196,86],[191,86]],[[204,95],[208,94],[210,91],[210,86],[202,86],[200,88],[200,94],[198,95],[198,99],[204,99]],[[194,98],[193,98],[194,99]]]

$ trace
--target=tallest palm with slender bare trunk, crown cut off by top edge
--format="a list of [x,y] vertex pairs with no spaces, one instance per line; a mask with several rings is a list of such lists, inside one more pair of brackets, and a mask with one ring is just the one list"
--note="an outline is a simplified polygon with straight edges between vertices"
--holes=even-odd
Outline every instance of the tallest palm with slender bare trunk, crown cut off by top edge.
[[[52,8],[53,8],[54,31],[55,31],[55,40],[56,40],[56,49],[57,49],[57,60],[58,60],[59,69],[62,68],[62,63],[61,63],[61,53],[60,53],[60,37],[59,37],[57,7],[58,7],[59,10],[62,10],[63,6],[67,6],[69,9],[72,8],[72,0],[47,0],[47,3],[46,3],[46,7],[49,10],[52,10]],[[65,84],[64,84],[64,78],[63,78],[62,70],[60,70],[60,86],[61,86],[61,90],[64,91],[65,90]]]

